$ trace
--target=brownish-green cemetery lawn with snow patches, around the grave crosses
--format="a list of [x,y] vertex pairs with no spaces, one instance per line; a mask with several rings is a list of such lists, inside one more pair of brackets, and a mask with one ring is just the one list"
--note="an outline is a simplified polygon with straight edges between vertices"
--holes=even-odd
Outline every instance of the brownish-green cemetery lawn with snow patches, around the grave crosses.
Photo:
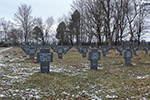
[[1,100],[150,99],[150,56],[142,50],[127,67],[123,56],[111,49],[101,56],[96,71],[89,70],[88,57],[82,58],[75,47],[62,60],[54,53],[48,74],[41,74],[40,64],[28,58],[19,47],[0,53]]

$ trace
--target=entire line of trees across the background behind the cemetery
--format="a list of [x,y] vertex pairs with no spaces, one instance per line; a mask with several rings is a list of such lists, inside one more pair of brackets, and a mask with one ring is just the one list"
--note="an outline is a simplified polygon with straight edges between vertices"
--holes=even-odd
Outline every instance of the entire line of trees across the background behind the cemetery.
[[0,19],[0,36],[7,42],[49,41],[60,45],[118,45],[128,40],[140,45],[148,29],[149,3],[141,0],[74,0],[72,11],[59,19],[56,33],[53,17],[33,17],[32,7],[22,4],[14,22]]

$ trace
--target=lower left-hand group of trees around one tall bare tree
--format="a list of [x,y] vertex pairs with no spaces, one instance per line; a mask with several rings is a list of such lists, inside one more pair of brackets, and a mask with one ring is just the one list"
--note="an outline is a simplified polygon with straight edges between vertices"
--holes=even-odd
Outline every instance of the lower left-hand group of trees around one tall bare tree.
[[48,41],[55,41],[55,33],[52,30],[53,17],[43,21],[40,17],[33,17],[32,7],[22,4],[14,14],[14,23],[0,19],[1,41],[4,43],[27,43],[39,42],[45,44]]

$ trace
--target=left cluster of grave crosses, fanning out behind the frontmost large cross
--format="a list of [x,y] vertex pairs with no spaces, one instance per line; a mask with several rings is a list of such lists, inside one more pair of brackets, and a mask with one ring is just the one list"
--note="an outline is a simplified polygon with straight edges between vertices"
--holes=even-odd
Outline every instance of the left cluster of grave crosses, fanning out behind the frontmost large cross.
[[66,54],[72,46],[21,46],[22,50],[29,55],[30,59],[34,59],[34,56],[39,49],[40,52],[37,53],[37,62],[40,62],[40,72],[48,73],[49,64],[53,62],[53,52],[50,52],[50,48],[57,52],[58,59],[63,58],[63,54]]

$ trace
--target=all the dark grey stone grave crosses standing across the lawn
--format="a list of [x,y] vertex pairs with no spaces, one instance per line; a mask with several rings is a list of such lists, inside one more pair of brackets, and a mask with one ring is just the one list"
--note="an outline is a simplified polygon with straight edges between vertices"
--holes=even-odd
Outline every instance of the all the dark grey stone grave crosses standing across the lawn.
[[[34,59],[34,56],[39,49],[40,52],[37,53],[37,62],[40,62],[40,72],[48,73],[49,72],[49,64],[53,62],[53,52],[50,52],[50,48],[58,54],[58,59],[63,59],[63,54],[67,54],[67,52],[72,48],[72,46],[21,46],[22,50],[29,55],[30,59]],[[98,66],[98,60],[100,60],[100,50],[102,50],[103,57],[106,56],[107,52],[110,50],[110,46],[76,46],[77,50],[82,54],[83,58],[86,58],[88,49],[89,56],[88,60],[91,62],[90,69],[96,70]],[[149,46],[143,47],[145,53],[148,54]],[[131,64],[132,52],[136,55],[136,51],[139,49],[138,46],[134,46],[132,48],[123,46],[117,46],[117,51],[122,56],[124,51],[124,59],[125,65],[128,66]]]

